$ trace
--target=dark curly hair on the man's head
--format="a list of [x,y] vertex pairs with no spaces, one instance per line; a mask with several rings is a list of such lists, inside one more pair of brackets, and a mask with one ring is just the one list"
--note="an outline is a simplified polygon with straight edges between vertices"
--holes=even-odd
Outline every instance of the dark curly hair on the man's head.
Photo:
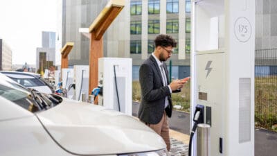
[[157,46],[172,46],[176,47],[177,42],[170,36],[170,35],[165,35],[165,34],[160,34],[156,37],[154,40],[155,42],[155,47]]

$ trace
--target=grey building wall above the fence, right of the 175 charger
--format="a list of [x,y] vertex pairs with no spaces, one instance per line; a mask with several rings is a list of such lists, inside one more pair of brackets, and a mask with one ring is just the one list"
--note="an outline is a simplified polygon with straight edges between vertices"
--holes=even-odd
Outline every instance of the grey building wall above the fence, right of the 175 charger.
[[256,0],[256,76],[277,75],[277,1]]

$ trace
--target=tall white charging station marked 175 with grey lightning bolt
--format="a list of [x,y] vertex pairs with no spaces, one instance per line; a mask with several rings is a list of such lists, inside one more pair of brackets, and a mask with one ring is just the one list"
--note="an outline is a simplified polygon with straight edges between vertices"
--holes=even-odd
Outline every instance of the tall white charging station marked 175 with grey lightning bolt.
[[192,1],[190,125],[195,106],[204,105],[212,156],[254,156],[255,5]]

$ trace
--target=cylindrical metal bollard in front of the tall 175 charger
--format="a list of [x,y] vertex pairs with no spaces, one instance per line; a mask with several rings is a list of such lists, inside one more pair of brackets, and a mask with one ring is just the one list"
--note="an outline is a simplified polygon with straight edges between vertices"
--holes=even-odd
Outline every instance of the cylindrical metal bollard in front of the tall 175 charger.
[[197,125],[197,156],[211,156],[211,126],[205,123]]

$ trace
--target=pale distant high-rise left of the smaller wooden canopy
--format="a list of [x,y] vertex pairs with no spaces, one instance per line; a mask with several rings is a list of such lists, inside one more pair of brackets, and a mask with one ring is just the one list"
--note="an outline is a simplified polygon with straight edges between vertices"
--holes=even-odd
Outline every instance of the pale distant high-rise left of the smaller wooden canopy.
[[48,69],[55,65],[55,32],[42,32],[42,47],[37,48],[36,68]]

